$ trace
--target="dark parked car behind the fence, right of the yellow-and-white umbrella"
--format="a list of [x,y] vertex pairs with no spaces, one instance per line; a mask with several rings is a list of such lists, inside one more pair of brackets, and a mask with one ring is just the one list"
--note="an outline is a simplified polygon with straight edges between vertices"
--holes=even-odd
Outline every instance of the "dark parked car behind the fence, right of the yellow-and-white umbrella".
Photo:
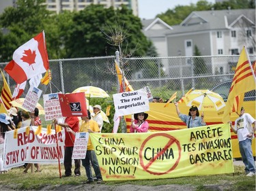
[[[232,84],[232,80],[227,80],[225,82],[221,82],[220,84],[214,86],[212,88],[213,92],[216,92],[223,97],[224,101],[227,101],[227,97],[229,96],[229,90]],[[244,94],[244,101],[255,101],[255,96],[256,96],[256,90],[252,90],[250,92],[246,92]]]

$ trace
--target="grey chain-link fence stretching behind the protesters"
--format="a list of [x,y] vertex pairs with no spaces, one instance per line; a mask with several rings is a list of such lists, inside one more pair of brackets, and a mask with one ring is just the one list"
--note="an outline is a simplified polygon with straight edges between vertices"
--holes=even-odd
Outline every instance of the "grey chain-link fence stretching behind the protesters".
[[[249,57],[255,61],[255,55]],[[238,58],[239,55],[123,58],[120,66],[134,90],[148,86],[154,97],[165,100],[176,91],[179,98],[190,88],[212,89],[232,79]],[[7,64],[0,64],[3,73]],[[118,92],[115,56],[50,60],[50,69],[51,86],[40,84],[38,87],[43,94],[68,93],[81,86],[102,88],[110,97]],[[13,92],[16,83],[6,73],[5,76]],[[25,93],[28,89],[29,86]]]

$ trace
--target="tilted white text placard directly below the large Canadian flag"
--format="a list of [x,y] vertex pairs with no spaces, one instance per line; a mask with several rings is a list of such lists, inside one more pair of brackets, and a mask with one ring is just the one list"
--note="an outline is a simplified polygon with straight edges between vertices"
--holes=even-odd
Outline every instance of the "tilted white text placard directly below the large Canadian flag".
[[28,111],[33,111],[38,103],[38,100],[40,99],[41,94],[42,90],[31,86],[26,94],[23,107]]

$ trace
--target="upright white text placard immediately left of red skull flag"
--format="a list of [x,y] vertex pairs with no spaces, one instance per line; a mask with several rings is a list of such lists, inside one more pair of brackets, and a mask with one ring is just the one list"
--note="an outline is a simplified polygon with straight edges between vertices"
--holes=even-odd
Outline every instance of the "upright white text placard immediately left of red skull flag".
[[44,94],[44,113],[45,120],[53,120],[54,118],[61,118],[61,106],[59,105],[58,93]]

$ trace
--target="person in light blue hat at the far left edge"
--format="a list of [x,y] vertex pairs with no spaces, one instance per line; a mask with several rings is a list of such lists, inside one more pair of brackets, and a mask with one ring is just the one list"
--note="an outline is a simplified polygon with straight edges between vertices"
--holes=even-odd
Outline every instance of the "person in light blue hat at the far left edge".
[[5,139],[5,132],[12,130],[8,124],[10,124],[10,122],[6,120],[5,114],[0,114],[0,173],[6,172],[3,169],[3,143]]

